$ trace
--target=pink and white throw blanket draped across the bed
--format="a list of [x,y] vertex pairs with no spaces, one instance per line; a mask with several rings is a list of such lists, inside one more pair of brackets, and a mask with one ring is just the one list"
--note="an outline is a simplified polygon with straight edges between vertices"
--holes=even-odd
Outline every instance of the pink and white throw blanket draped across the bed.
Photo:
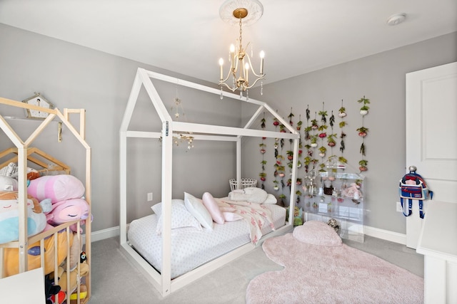
[[229,199],[216,199],[220,207],[235,209],[233,213],[239,214],[249,226],[251,243],[256,245],[262,237],[263,226],[270,226],[275,230],[271,211],[262,204],[249,203],[248,201],[231,201]]

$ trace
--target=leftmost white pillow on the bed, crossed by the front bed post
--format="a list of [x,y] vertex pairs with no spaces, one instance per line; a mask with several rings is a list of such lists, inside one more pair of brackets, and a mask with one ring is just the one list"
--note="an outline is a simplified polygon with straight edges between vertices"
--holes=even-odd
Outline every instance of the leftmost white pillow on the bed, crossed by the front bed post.
[[[151,206],[159,219],[156,226],[156,234],[162,234],[162,227],[164,226],[164,219],[162,219],[162,203]],[[184,201],[182,199],[171,200],[171,229],[180,229],[184,227],[193,227],[194,229],[201,231],[201,225],[199,221],[186,209]]]

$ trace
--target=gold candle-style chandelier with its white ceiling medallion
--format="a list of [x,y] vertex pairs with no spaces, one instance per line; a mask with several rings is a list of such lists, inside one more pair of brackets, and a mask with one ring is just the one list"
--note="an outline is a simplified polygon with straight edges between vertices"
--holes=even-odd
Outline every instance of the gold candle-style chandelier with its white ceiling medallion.
[[[263,73],[263,58],[265,53],[260,52],[260,67],[258,73],[254,69],[251,63],[252,57],[252,46],[251,46],[251,56],[248,55],[248,46],[243,48],[242,43],[242,23],[243,19],[245,24],[251,24],[256,22],[263,14],[263,6],[259,1],[256,0],[228,0],[222,4],[221,9],[219,10],[219,15],[221,19],[229,23],[234,23],[238,21],[240,27],[240,36],[237,39],[238,46],[231,45],[229,53],[229,63],[230,69],[227,75],[224,78],[224,59],[219,59],[219,65],[221,68],[221,77],[219,79],[219,86],[221,87],[221,98],[222,98],[222,88],[225,86],[232,92],[240,90],[240,98],[243,95],[243,92],[252,88],[258,80],[263,80],[265,74]],[[249,78],[249,73],[252,73],[254,77]],[[227,84],[227,82],[231,82]],[[247,94],[247,93],[246,93]],[[261,94],[263,94],[263,83],[261,83]],[[247,97],[247,96],[246,96]]]

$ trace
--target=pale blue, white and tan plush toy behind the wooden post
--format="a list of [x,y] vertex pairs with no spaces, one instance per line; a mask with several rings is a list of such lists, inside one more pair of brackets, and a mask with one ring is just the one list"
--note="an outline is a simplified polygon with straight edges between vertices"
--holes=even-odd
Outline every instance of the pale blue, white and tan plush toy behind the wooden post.
[[[0,243],[19,239],[19,193],[16,191],[0,192]],[[44,211],[51,210],[51,201],[27,195],[27,235],[39,234],[46,227]]]

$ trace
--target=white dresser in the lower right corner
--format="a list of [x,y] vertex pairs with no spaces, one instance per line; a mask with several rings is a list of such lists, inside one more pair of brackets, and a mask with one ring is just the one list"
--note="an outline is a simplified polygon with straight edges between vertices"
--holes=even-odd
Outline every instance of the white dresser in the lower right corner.
[[457,303],[457,203],[430,201],[419,236],[425,303]]

